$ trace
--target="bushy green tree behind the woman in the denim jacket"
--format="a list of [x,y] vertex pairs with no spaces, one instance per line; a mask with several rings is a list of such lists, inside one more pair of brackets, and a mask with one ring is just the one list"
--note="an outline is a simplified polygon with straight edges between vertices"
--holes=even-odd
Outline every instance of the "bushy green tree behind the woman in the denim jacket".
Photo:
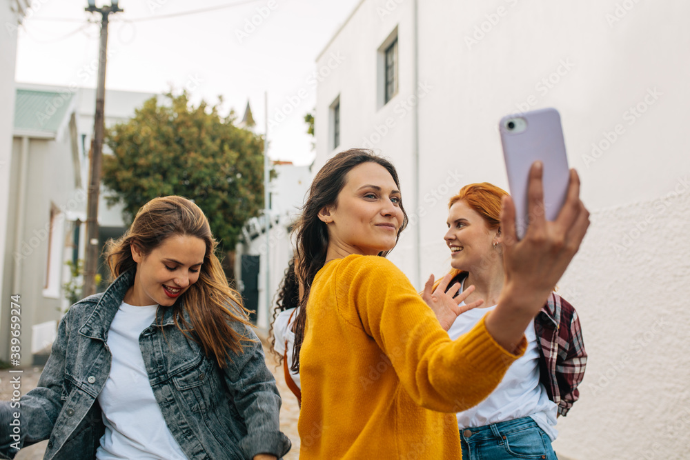
[[107,134],[114,154],[103,157],[103,184],[115,192],[108,205],[124,204],[124,220],[150,199],[171,194],[193,199],[214,236],[234,250],[242,226],[264,205],[264,139],[237,128],[204,101],[188,94],[153,97],[135,117]]

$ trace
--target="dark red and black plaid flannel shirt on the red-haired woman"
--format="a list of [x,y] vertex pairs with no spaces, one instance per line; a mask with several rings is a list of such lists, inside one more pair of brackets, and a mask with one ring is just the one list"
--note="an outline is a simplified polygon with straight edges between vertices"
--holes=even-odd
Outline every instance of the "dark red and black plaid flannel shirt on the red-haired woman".
[[539,379],[564,416],[580,397],[578,385],[587,365],[578,312],[551,292],[534,319],[534,330],[540,344]]

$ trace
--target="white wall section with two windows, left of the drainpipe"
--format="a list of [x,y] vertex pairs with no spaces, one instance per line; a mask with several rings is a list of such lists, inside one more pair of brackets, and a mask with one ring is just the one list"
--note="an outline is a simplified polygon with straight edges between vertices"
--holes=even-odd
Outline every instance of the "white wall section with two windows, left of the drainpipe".
[[[392,2],[394,3],[394,2]],[[363,1],[349,21],[333,37],[317,59],[315,133],[317,155],[313,166],[316,174],[326,159],[348,148],[373,148],[395,163],[403,194],[411,194],[413,183],[412,138],[413,106],[408,99],[417,91],[413,83],[413,12],[412,1],[386,10],[384,2]],[[397,27],[399,76],[398,93],[380,107],[377,86],[377,50]],[[331,103],[340,99],[340,146],[332,148]],[[411,201],[411,200],[410,200]],[[407,203],[406,203],[407,204]],[[408,209],[411,213],[411,209]],[[402,234],[390,258],[406,267],[413,276],[414,224]]]

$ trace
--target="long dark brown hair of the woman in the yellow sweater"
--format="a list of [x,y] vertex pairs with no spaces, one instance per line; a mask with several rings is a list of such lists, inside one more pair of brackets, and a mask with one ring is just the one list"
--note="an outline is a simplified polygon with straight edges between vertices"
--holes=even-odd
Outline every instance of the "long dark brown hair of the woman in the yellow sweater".
[[[304,326],[306,325],[306,305],[311,292],[311,283],[317,272],[326,263],[326,252],[328,251],[328,230],[326,223],[319,219],[319,211],[326,206],[337,204],[340,191],[346,183],[347,175],[350,170],[362,163],[377,163],[386,168],[393,177],[395,185],[400,189],[400,181],[397,178],[395,166],[390,161],[377,156],[371,150],[353,148],[336,154],[333,158],[326,161],[326,164],[317,172],[314,181],[309,188],[308,197],[302,208],[302,217],[297,223],[297,277],[304,286],[304,296],[300,301],[299,314],[295,321],[295,349],[293,350],[292,370],[299,370],[299,350],[302,349],[304,341]],[[397,238],[400,232],[407,226],[407,213],[400,201],[400,210],[404,219],[402,226],[397,231]],[[397,241],[396,238],[396,241]],[[379,255],[385,257],[390,251],[380,252]]]

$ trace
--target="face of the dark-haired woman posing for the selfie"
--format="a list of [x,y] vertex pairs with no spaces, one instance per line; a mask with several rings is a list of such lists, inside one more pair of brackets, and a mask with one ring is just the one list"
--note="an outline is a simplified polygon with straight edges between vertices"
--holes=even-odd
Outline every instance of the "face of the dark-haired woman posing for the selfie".
[[352,168],[337,203],[319,212],[328,225],[327,259],[393,249],[404,220],[400,199],[400,190],[383,166],[367,162]]

